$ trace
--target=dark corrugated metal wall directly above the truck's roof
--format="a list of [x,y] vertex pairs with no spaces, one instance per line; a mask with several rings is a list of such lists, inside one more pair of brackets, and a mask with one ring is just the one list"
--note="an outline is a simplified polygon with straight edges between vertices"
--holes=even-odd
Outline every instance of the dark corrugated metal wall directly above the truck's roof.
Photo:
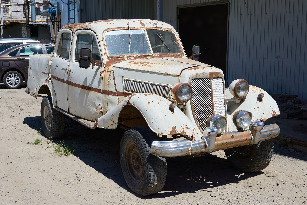
[[157,0],[85,0],[85,2],[82,4],[82,9],[85,10],[86,22],[118,18],[157,19]]

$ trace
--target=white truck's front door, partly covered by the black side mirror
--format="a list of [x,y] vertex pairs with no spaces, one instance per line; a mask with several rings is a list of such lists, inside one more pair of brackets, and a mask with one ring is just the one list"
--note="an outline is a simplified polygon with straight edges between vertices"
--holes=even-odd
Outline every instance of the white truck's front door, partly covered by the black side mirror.
[[[95,121],[102,116],[102,56],[96,34],[90,30],[79,30],[74,33],[71,62],[68,73],[68,106],[69,112],[81,118]],[[81,48],[91,49],[94,59],[89,68],[79,66]]]

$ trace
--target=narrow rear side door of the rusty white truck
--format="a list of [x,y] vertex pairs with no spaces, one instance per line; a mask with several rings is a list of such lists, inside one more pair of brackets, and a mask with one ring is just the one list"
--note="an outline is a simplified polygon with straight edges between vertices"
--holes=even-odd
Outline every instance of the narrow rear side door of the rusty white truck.
[[71,41],[72,31],[67,29],[60,30],[50,69],[51,81],[56,94],[56,106],[66,112],[68,112],[67,73],[70,71],[68,65]]

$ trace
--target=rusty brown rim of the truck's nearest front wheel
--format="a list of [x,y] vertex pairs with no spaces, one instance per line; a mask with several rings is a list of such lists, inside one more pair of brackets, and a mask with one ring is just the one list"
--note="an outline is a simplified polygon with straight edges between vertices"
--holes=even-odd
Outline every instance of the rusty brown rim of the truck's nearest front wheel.
[[140,183],[144,175],[142,153],[134,142],[130,142],[126,148],[126,165],[131,179]]

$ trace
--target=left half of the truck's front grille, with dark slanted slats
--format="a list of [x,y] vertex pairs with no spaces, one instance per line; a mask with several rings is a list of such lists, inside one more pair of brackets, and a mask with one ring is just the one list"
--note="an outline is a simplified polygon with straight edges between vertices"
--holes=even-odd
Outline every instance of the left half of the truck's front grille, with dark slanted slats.
[[196,78],[191,81],[194,114],[201,130],[207,128],[207,120],[213,115],[211,81],[209,78]]

